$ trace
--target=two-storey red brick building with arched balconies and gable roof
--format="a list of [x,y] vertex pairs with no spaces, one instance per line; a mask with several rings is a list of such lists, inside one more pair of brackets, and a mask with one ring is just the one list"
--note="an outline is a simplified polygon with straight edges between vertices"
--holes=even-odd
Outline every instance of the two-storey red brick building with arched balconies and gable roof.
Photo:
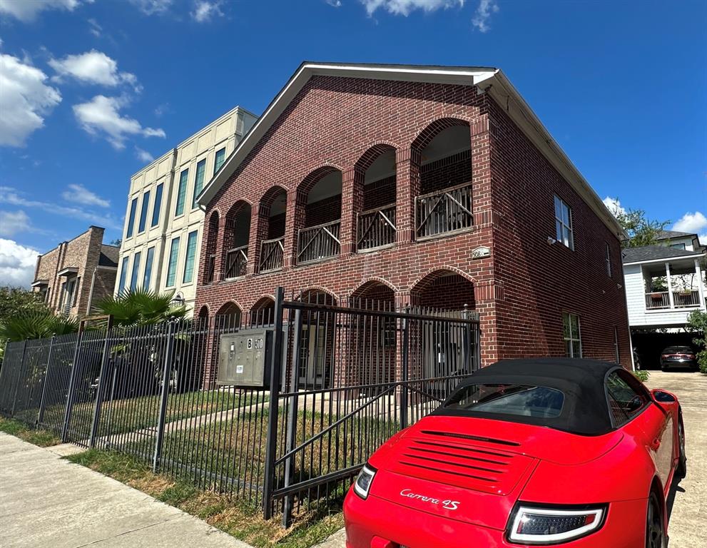
[[631,364],[621,228],[495,68],[302,64],[199,201],[201,317],[466,304],[483,365]]

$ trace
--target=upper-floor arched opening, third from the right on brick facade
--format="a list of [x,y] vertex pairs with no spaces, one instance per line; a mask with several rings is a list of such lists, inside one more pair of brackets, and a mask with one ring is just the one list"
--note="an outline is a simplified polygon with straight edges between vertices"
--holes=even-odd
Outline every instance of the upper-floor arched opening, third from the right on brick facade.
[[297,189],[297,264],[313,263],[340,253],[342,174],[320,168]]

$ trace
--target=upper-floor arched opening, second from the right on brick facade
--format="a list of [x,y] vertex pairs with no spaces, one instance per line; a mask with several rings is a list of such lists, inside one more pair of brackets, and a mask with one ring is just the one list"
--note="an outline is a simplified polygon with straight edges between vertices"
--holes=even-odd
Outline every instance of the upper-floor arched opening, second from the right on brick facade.
[[376,145],[356,163],[360,188],[357,249],[370,250],[395,243],[395,148]]

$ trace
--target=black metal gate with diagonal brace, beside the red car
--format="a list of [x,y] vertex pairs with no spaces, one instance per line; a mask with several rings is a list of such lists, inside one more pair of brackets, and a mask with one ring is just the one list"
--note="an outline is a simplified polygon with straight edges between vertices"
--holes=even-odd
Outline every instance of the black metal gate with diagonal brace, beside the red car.
[[265,517],[282,512],[287,527],[342,499],[377,447],[472,374],[479,321],[468,310],[278,296],[273,357],[286,358],[273,359],[263,499]]

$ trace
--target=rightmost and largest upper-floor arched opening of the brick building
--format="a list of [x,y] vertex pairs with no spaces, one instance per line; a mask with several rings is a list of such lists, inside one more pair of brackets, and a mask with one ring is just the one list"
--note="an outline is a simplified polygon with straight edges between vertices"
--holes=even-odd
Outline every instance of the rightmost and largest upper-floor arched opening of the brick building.
[[472,138],[455,118],[431,123],[412,143],[419,170],[415,197],[416,238],[468,230],[472,214]]

